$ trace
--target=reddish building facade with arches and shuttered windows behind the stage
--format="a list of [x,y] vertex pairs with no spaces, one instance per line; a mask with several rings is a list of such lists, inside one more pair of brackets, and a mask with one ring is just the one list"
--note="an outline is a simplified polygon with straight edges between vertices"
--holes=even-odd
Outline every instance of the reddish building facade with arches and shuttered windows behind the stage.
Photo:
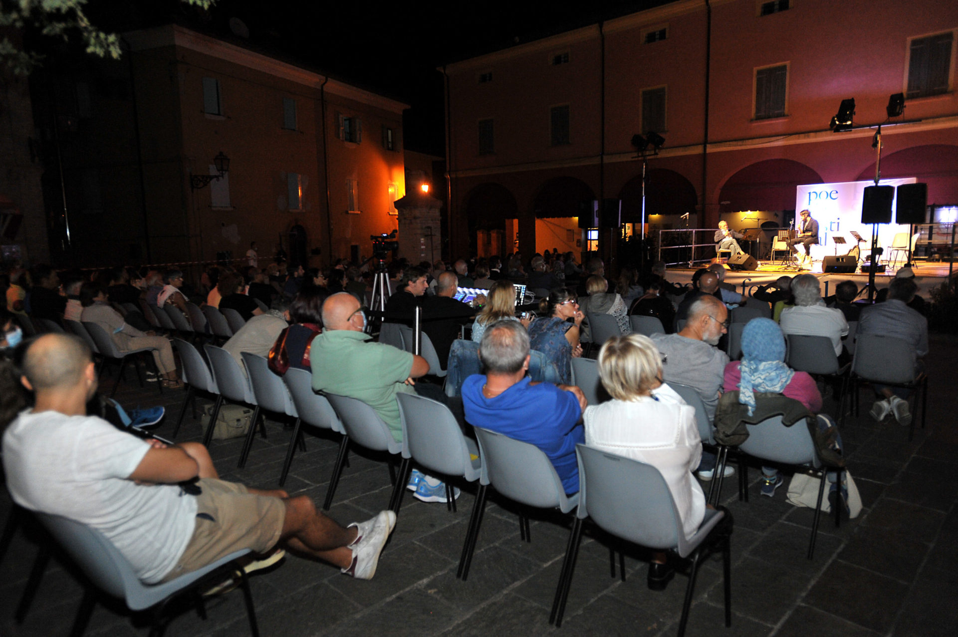
[[[867,125],[883,178],[958,203],[956,37],[958,5],[930,0],[677,0],[447,65],[453,251],[595,247],[578,219],[595,208],[639,233],[643,190],[652,239],[686,214],[787,226],[796,186],[874,178]],[[605,255],[617,232],[593,233]]]

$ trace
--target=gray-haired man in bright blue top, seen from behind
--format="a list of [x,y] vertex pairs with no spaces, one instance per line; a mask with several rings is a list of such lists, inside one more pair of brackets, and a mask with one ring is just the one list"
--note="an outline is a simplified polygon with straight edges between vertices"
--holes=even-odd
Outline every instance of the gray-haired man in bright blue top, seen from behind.
[[497,321],[479,345],[486,375],[463,382],[466,420],[523,443],[535,444],[552,461],[566,493],[579,491],[576,444],[583,442],[585,397],[575,386],[532,382],[529,334],[516,321]]

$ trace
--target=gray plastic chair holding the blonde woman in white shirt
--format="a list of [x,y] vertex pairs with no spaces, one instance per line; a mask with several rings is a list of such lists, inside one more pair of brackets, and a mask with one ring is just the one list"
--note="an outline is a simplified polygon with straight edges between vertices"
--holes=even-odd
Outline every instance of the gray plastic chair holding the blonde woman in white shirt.
[[562,624],[565,600],[579,553],[582,520],[586,517],[611,535],[691,559],[689,583],[685,588],[685,602],[678,622],[680,637],[685,634],[689,621],[689,608],[703,549],[719,546],[722,554],[725,626],[732,626],[731,520],[719,526],[719,522],[726,517],[725,512],[706,510],[696,535],[686,539],[672,493],[657,468],[584,444],[576,445],[576,453],[579,459],[579,509],[562,563],[558,609],[553,604],[556,626]]

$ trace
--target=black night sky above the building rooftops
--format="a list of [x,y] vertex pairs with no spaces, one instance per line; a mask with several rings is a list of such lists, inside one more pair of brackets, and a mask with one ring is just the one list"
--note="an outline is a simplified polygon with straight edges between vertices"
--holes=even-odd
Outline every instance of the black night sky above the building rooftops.
[[[88,13],[115,32],[175,21],[395,97],[412,105],[403,123],[406,148],[442,156],[437,66],[668,2],[218,0],[207,12],[178,0],[93,0]],[[231,30],[231,18],[248,37]]]

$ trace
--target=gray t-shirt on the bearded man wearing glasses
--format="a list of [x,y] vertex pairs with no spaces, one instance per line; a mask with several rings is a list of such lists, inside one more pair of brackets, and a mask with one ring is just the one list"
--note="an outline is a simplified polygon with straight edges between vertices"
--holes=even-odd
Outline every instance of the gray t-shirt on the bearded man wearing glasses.
[[728,354],[705,341],[678,334],[652,334],[651,339],[665,357],[662,379],[695,387],[705,403],[705,413],[714,421]]

